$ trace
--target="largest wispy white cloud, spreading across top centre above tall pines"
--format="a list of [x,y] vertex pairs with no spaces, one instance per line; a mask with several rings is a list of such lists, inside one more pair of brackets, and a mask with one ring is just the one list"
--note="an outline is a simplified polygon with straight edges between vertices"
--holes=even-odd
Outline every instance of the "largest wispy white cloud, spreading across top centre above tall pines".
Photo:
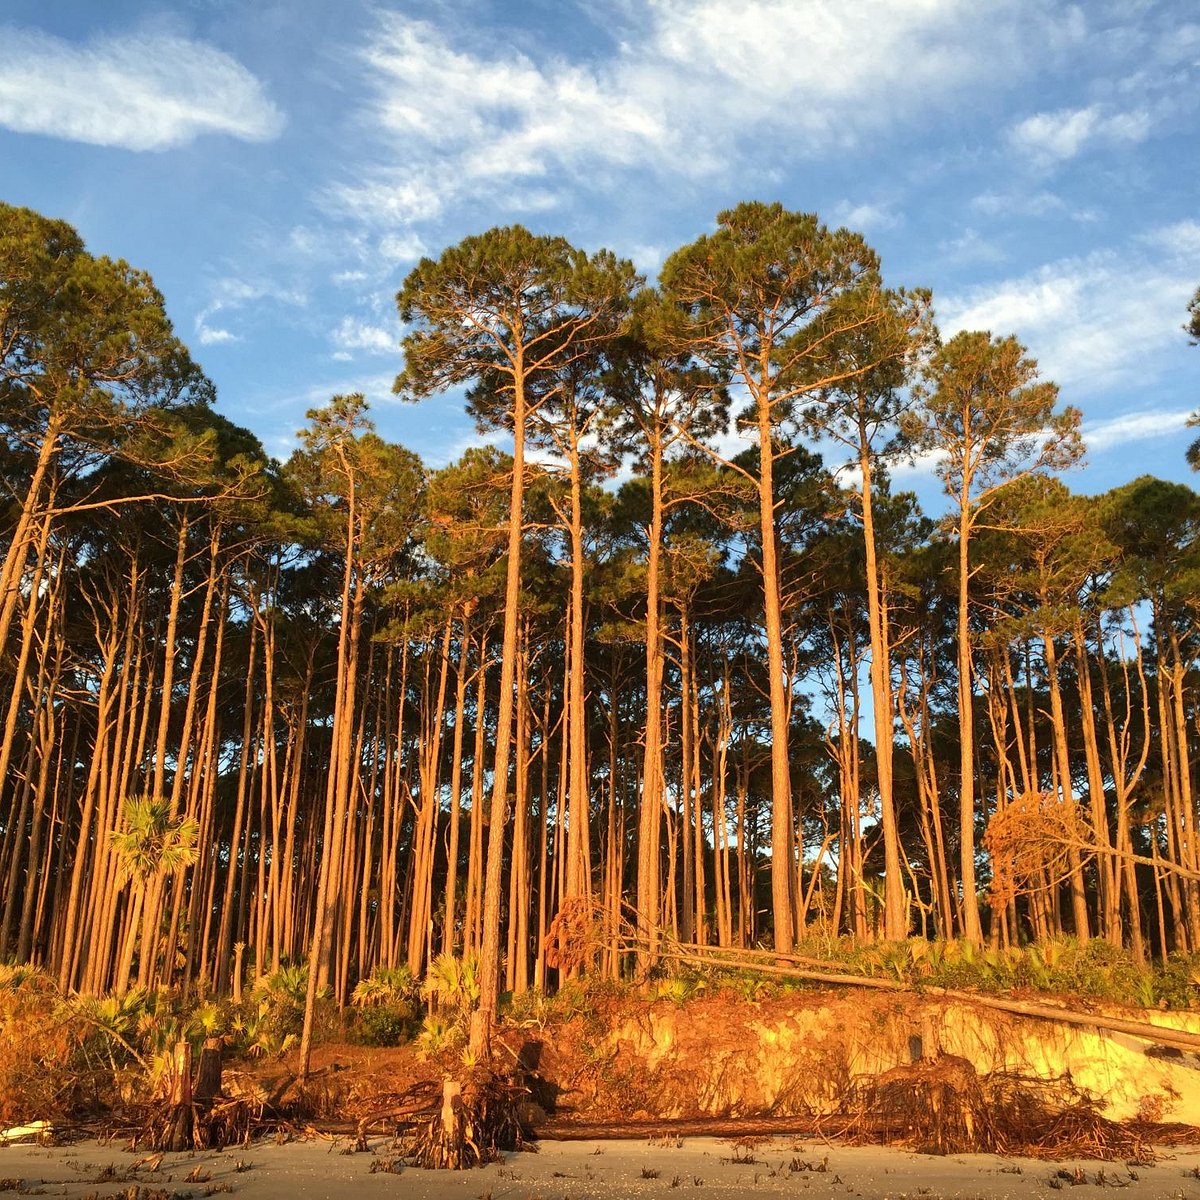
[[[382,14],[362,54],[378,163],[326,203],[404,226],[463,199],[553,206],[564,179],[766,176],[772,164],[743,150],[763,134],[792,158],[841,149],[964,88],[1007,85],[1084,32],[1049,0],[646,0],[618,12],[617,49],[599,61],[534,61]],[[892,220],[877,206],[859,217]]]

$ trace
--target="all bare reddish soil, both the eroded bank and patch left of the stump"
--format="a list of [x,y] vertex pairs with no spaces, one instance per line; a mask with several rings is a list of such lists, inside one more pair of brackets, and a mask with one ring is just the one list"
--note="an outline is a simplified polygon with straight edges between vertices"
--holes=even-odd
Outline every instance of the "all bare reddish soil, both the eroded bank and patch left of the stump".
[[[1127,1043],[919,995],[713,991],[676,1004],[599,992],[552,1021],[506,1025],[497,1055],[529,1091],[527,1124],[551,1136],[740,1128],[1108,1159],[1200,1140],[1189,1124],[1200,1123],[1200,1060]],[[428,1105],[443,1078],[466,1070],[456,1054],[324,1045],[300,1090],[290,1066],[234,1064],[229,1090],[296,1121],[378,1130],[412,1111],[422,1082]]]

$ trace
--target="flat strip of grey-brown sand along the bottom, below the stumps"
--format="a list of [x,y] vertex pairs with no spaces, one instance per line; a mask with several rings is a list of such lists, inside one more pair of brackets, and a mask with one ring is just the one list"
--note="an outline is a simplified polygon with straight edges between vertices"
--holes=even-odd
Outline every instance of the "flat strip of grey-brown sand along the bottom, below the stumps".
[[804,1200],[1068,1195],[1072,1200],[1099,1200],[1117,1187],[1117,1194],[1128,1200],[1200,1200],[1200,1150],[1162,1151],[1154,1166],[1129,1166],[1042,1163],[994,1154],[932,1158],[895,1148],[841,1147],[787,1138],[750,1150],[715,1138],[689,1138],[682,1145],[547,1141],[538,1153],[509,1154],[503,1163],[457,1172],[404,1166],[386,1138],[372,1138],[367,1151],[349,1150],[347,1139],[282,1146],[263,1142],[164,1156],[131,1152],[115,1142],[5,1146],[0,1147],[0,1192],[97,1200],[223,1194],[239,1200],[730,1200],[774,1195]]

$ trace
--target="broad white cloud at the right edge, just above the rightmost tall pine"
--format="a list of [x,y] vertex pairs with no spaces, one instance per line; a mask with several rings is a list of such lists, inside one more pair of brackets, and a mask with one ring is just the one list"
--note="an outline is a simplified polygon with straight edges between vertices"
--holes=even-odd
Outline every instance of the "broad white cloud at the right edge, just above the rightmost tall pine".
[[1164,265],[1140,250],[1068,258],[942,300],[938,323],[947,335],[1015,334],[1043,374],[1076,395],[1145,383],[1152,353],[1180,341],[1198,274],[1200,262]]

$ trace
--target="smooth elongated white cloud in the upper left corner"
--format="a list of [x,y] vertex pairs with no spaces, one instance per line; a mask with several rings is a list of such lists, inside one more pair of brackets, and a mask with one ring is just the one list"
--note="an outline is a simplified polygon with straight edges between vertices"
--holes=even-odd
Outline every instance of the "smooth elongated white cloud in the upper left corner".
[[162,35],[76,44],[0,26],[0,125],[126,150],[167,150],[203,133],[266,142],[283,114],[240,62]]

